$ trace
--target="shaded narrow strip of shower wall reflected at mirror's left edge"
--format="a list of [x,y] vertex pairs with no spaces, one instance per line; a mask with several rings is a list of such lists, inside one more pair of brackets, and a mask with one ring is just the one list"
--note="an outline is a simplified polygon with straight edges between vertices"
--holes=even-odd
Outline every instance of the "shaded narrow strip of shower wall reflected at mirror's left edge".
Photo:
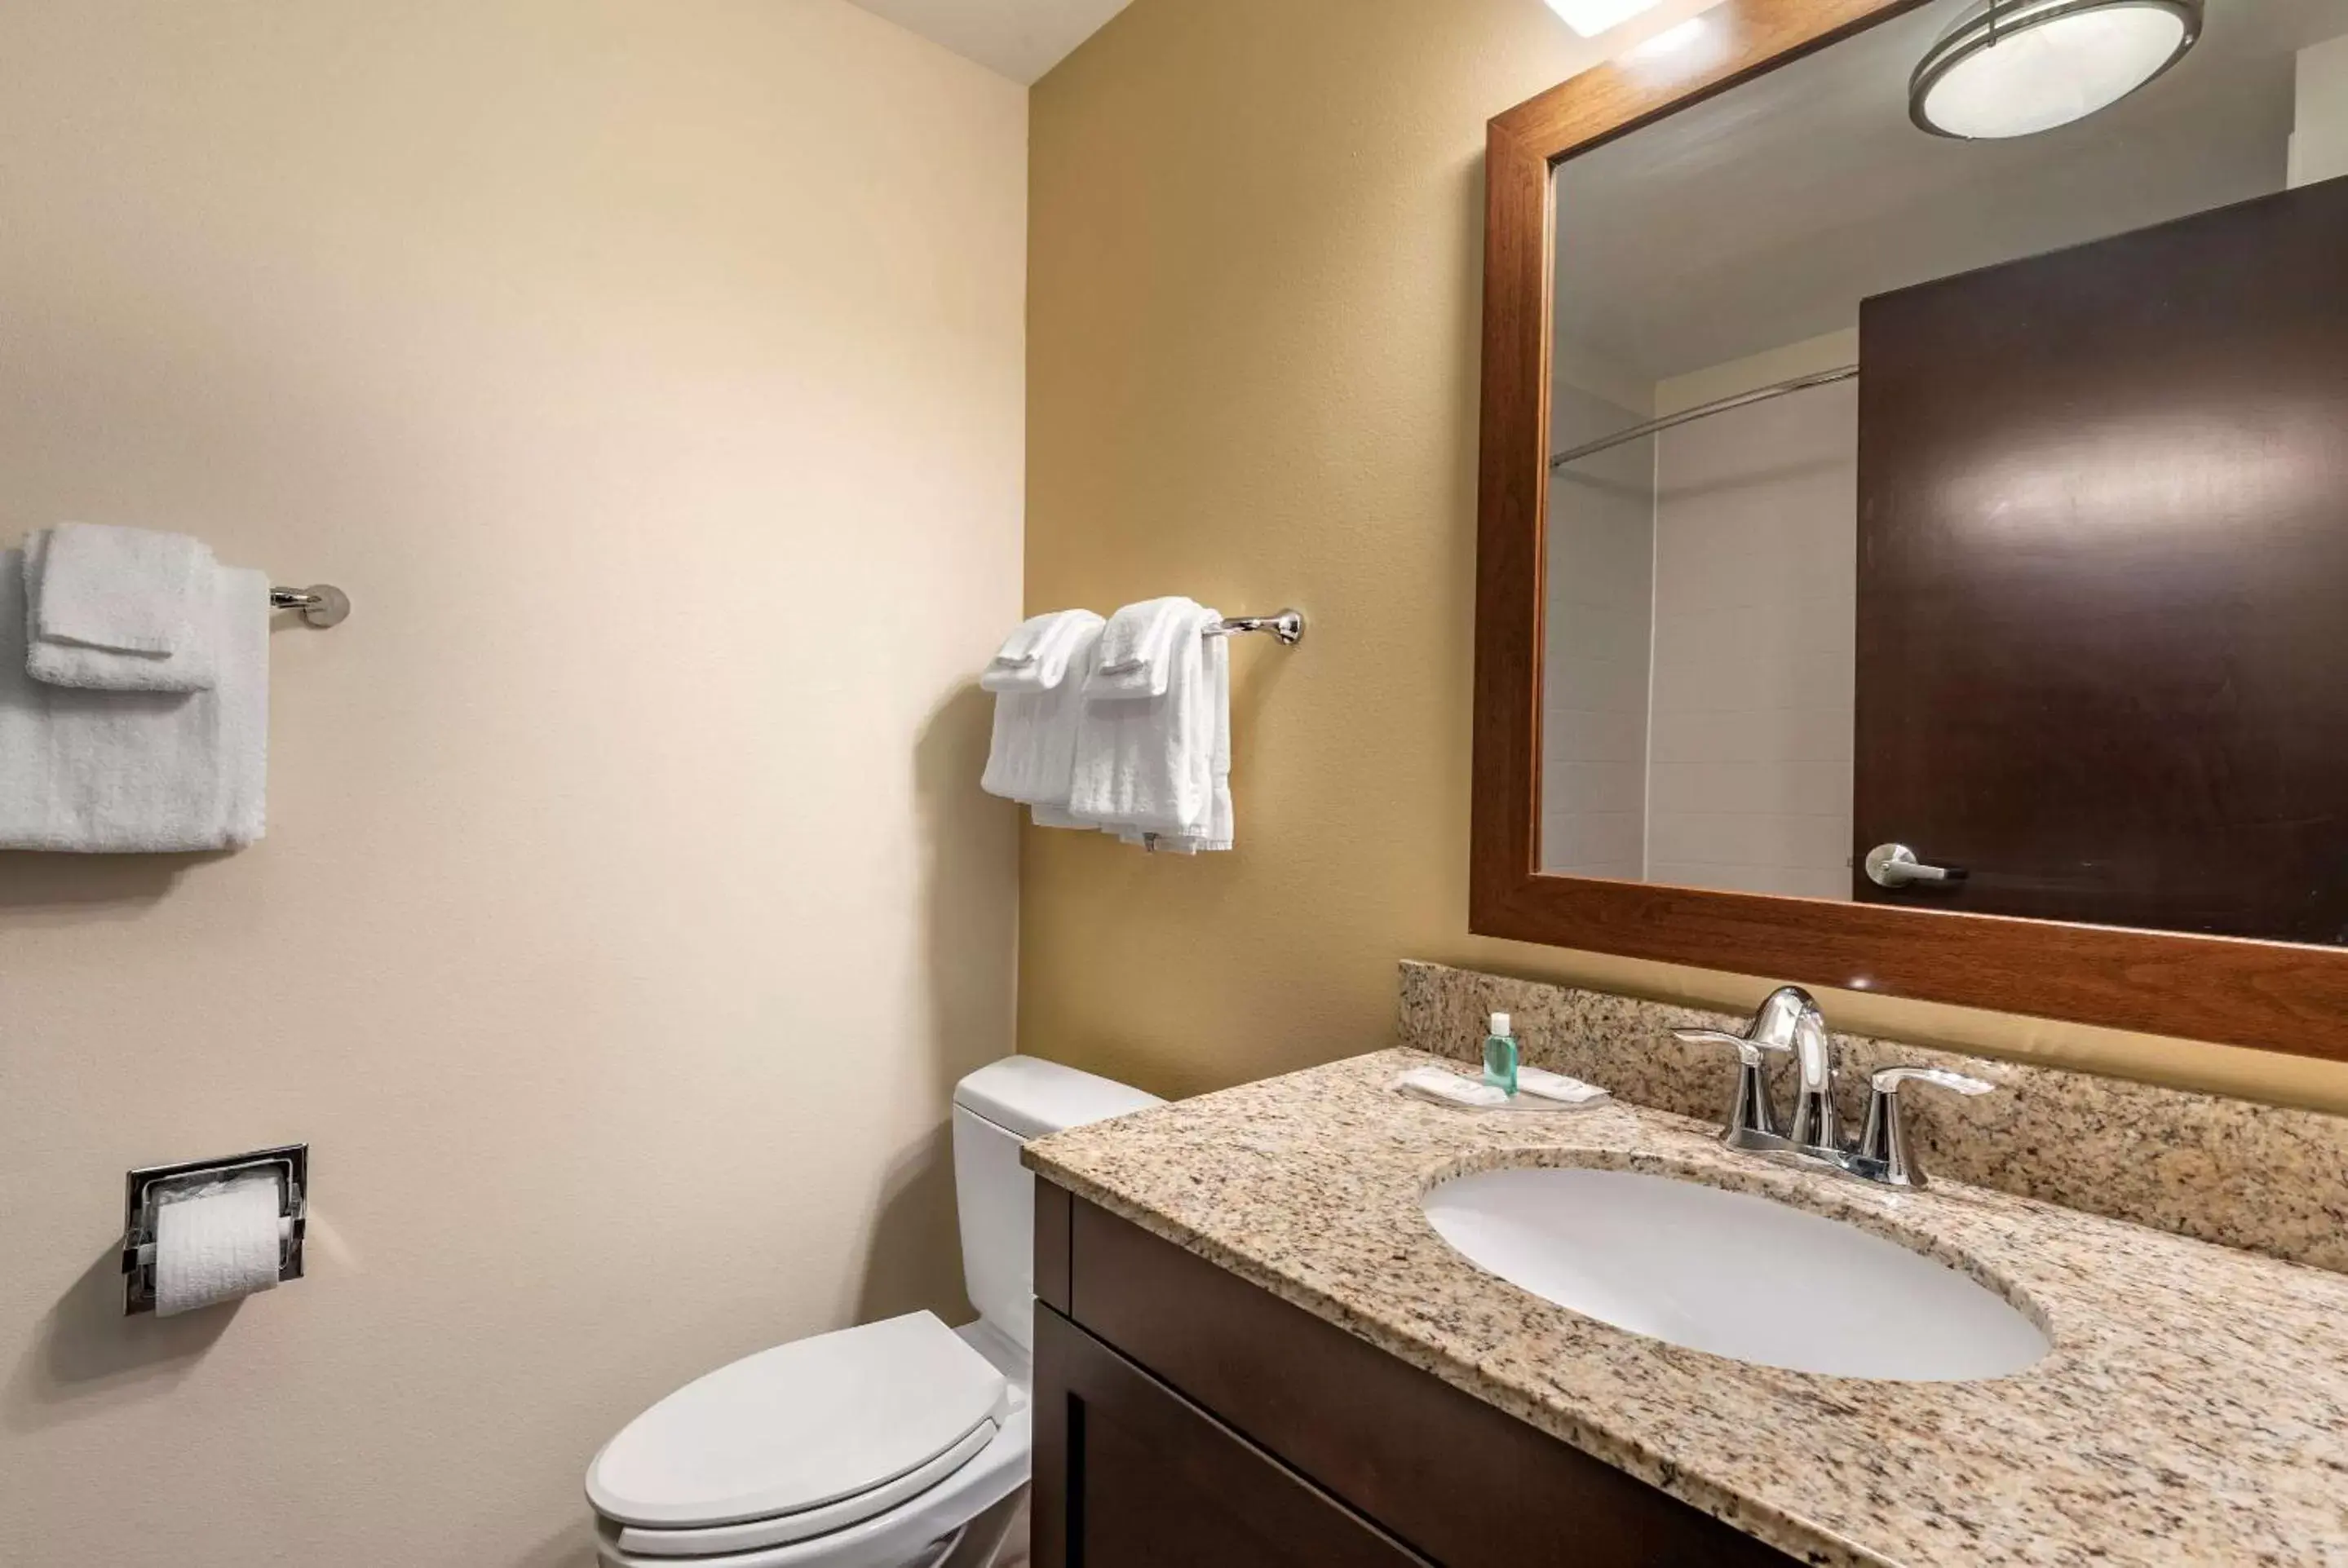
[[[1559,385],[1552,451],[1637,425]],[[1655,444],[1632,441],[1550,484],[1540,721],[1540,866],[1639,878],[1646,859],[1648,606],[1655,596]]]

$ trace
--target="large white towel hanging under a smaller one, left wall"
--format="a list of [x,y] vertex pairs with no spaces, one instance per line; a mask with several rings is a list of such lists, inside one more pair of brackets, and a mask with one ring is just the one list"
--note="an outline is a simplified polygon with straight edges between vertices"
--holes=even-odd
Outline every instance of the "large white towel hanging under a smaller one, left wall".
[[176,852],[254,843],[268,796],[268,594],[211,568],[207,692],[103,692],[26,671],[21,552],[0,554],[0,850]]

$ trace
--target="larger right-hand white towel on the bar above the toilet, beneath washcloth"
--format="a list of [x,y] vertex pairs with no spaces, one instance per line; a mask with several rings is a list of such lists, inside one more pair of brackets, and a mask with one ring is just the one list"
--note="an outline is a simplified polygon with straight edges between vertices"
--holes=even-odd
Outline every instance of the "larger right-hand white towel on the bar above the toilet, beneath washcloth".
[[[1216,620],[1214,610],[1197,603],[1174,617],[1167,688],[1160,697],[1101,697],[1097,681],[1085,681],[1075,777],[1068,789],[1073,817],[1097,822],[1120,838],[1155,833],[1165,840],[1200,840],[1193,847],[1228,847],[1228,822],[1226,838],[1214,838],[1216,732],[1223,730],[1228,758],[1230,723],[1228,676],[1219,681],[1209,674],[1205,646],[1205,629]],[[1106,648],[1108,631],[1101,634],[1101,657]],[[1216,648],[1216,655],[1228,657],[1228,650]],[[1219,711],[1226,714],[1221,725]],[[1228,761],[1223,772],[1228,777]]]

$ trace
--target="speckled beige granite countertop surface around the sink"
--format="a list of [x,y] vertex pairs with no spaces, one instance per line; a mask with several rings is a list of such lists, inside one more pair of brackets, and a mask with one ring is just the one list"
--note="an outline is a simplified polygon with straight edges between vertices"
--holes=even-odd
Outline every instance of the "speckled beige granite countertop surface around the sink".
[[[2348,1563],[2348,1277],[1937,1181],[1888,1192],[1611,1103],[1460,1113],[1376,1052],[1028,1145],[1050,1181],[1817,1563]],[[1939,1256],[2050,1336],[1979,1383],[1681,1350],[1453,1253],[1439,1178],[1519,1164],[1763,1192]]]

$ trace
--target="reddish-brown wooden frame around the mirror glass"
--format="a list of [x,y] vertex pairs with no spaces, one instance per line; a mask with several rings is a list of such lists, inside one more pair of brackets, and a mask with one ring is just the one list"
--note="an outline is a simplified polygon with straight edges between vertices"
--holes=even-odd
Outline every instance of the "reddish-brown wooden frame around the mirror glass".
[[1538,871],[1554,181],[1566,157],[1923,0],[1721,0],[1714,59],[1599,66],[1486,129],[1468,927],[1965,1007],[2348,1061],[2348,948]]

